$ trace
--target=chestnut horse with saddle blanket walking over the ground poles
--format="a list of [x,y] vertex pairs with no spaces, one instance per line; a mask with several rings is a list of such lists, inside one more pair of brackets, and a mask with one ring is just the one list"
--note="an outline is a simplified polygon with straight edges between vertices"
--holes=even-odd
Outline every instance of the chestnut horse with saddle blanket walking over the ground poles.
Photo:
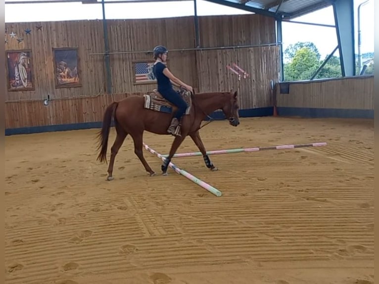
[[[229,124],[237,127],[239,125],[237,91],[234,93],[213,92],[192,94],[181,88],[177,92],[185,99],[188,107],[177,127],[176,133],[179,132],[180,135],[175,136],[170,153],[161,166],[162,175],[167,175],[168,165],[172,157],[187,136],[190,136],[202,153],[206,167],[212,171],[217,171],[217,167],[209,159],[205,146],[201,141],[199,134],[200,125],[205,117],[210,118],[209,114],[221,109],[225,117],[228,118]],[[113,180],[115,157],[128,134],[133,139],[134,152],[140,159],[146,172],[150,176],[155,175],[155,172],[150,168],[142,153],[143,132],[147,131],[157,135],[171,135],[167,133],[167,128],[177,109],[175,105],[164,99],[156,89],[152,93],[130,95],[119,101],[113,101],[106,107],[103,114],[102,128],[97,134],[97,150],[100,151],[96,160],[107,163],[108,136],[113,118],[117,136],[111,146],[107,171],[108,181]]]

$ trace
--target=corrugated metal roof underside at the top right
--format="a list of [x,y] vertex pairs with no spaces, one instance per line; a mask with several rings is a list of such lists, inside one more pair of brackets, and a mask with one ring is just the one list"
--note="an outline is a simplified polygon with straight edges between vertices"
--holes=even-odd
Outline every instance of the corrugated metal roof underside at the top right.
[[207,0],[234,8],[279,17],[293,19],[301,15],[332,5],[331,0]]

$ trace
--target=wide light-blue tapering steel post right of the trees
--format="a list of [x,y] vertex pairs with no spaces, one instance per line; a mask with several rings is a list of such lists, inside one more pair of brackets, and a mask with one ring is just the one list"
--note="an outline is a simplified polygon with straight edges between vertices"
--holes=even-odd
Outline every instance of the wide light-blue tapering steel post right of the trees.
[[354,0],[333,2],[342,77],[355,76]]

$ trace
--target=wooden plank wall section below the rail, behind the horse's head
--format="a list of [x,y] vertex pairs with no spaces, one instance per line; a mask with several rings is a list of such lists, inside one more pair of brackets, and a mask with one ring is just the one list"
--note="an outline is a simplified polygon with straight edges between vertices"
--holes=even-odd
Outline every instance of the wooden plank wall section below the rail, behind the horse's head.
[[[197,53],[200,92],[210,92],[214,86],[221,91],[237,90],[241,109],[272,106],[270,80],[277,81],[278,47],[254,47],[235,50],[207,50]],[[235,62],[248,77],[243,79],[225,68]]]

